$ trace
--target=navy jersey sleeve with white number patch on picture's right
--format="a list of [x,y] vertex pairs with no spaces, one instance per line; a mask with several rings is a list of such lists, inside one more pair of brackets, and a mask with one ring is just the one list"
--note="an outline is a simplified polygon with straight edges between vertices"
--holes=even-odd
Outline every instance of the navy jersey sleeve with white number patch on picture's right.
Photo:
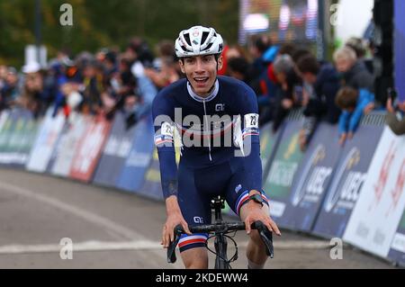
[[248,189],[262,192],[262,161],[260,159],[260,132],[258,127],[257,97],[252,89],[246,88],[241,105],[243,154],[247,172]]

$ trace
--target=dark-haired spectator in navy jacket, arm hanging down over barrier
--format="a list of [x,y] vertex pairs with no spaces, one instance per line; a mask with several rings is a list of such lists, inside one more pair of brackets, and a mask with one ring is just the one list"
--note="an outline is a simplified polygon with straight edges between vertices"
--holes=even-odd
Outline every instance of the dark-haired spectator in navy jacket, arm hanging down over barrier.
[[311,54],[302,56],[296,67],[304,81],[302,95],[299,95],[305,116],[300,131],[300,147],[304,150],[321,118],[324,117],[329,123],[338,121],[340,110],[335,98],[340,85],[336,69],[329,63],[320,65]]

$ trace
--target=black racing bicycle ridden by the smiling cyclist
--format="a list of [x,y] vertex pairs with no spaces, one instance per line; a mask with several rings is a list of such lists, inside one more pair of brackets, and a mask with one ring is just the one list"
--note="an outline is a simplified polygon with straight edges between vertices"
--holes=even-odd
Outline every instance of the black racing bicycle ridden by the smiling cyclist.
[[[189,229],[192,233],[208,233],[211,236],[205,241],[205,247],[211,251],[215,257],[215,269],[231,269],[230,263],[238,259],[238,245],[233,239],[238,230],[245,230],[246,226],[244,222],[235,221],[235,222],[226,222],[222,220],[221,210],[225,208],[225,200],[220,196],[215,197],[211,200],[211,210],[215,212],[215,223],[214,224],[203,224],[196,226],[189,226]],[[274,257],[274,247],[273,247],[273,236],[272,232],[268,230],[263,224],[262,221],[256,221],[252,224],[252,229],[257,229],[262,238],[263,243],[266,246],[266,255],[270,258]],[[234,232],[232,237],[229,237],[227,234]],[[184,234],[184,229],[181,225],[175,227],[175,240],[170,242],[169,247],[167,248],[167,263],[175,263],[175,247],[177,246],[180,236]],[[208,241],[211,238],[215,238],[214,247],[215,251],[212,251],[208,247]],[[235,254],[230,257],[228,260],[227,249],[229,238],[235,246]]]

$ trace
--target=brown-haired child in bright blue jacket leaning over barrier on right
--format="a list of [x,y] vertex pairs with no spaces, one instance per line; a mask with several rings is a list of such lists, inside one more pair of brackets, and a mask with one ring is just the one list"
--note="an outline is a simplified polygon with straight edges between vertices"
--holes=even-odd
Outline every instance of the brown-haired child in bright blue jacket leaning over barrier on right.
[[338,91],[336,104],[342,110],[338,121],[340,145],[353,138],[366,106],[373,102],[374,94],[366,89],[356,90],[347,86]]

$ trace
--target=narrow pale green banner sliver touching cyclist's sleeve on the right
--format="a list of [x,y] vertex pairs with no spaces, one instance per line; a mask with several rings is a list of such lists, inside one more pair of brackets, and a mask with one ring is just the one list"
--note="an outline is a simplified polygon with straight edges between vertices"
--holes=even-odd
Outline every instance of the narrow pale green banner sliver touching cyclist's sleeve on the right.
[[260,158],[262,159],[263,175],[267,175],[271,161],[275,155],[277,139],[281,134],[280,130],[282,128],[273,133],[271,122],[260,128]]

